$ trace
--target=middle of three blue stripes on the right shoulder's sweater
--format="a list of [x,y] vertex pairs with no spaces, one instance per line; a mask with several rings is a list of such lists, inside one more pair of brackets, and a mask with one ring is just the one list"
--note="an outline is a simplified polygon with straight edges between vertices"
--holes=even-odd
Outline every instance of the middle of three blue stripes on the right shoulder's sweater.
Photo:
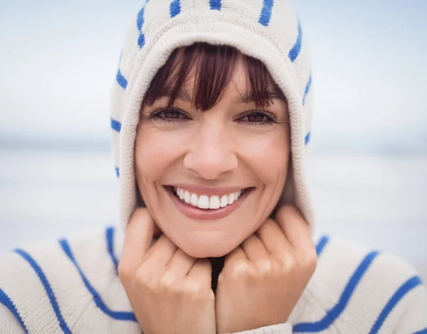
[[367,257],[364,258],[362,263],[359,264],[356,271],[354,271],[354,274],[349,279],[349,282],[345,287],[344,291],[342,292],[342,295],[339,298],[337,305],[331,308],[330,311],[327,311],[326,316],[322,320],[317,321],[315,323],[299,323],[297,325],[294,325],[293,333],[316,333],[322,330],[326,330],[328,327],[330,327],[330,325],[332,325],[332,323],[334,323],[334,321],[337,320],[337,318],[344,311],[345,307],[347,306],[347,303],[349,302],[350,297],[352,296],[354,290],[357,288],[357,284],[359,284],[364,273],[367,271],[367,269],[369,268],[372,261],[374,261],[377,255],[378,252],[371,252],[367,255]]

